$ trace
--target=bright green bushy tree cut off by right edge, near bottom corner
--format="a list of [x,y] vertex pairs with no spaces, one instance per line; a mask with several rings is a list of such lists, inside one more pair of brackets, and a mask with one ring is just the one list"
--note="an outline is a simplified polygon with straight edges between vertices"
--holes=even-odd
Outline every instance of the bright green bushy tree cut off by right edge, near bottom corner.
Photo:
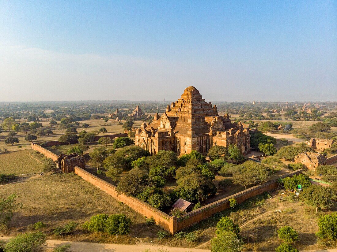
[[316,236],[320,239],[337,240],[337,212],[320,216],[318,219],[319,231]]

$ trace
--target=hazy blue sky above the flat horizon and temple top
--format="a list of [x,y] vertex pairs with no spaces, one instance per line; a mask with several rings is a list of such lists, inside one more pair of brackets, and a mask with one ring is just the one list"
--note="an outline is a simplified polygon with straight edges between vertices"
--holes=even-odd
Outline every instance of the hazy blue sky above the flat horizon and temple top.
[[0,1],[0,101],[337,100],[336,35],[337,1]]

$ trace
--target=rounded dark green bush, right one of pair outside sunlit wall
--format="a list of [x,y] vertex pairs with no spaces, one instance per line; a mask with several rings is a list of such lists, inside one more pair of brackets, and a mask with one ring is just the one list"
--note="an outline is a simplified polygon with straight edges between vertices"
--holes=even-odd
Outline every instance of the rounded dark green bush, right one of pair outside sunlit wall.
[[111,235],[127,235],[130,232],[131,220],[125,214],[113,214],[106,219],[105,231]]

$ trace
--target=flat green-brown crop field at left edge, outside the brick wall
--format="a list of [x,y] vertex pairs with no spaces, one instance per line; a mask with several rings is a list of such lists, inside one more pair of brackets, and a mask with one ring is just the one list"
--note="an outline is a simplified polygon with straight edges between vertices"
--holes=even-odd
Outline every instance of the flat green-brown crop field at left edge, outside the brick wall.
[[43,164],[31,155],[32,150],[19,150],[0,153],[0,173],[38,173],[42,171]]

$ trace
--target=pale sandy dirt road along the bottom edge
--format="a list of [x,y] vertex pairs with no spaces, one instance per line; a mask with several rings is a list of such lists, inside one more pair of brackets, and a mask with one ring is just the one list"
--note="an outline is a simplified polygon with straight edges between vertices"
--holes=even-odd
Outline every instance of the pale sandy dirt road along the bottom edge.
[[[0,240],[9,240],[12,237],[0,237]],[[109,243],[91,243],[91,242],[68,242],[58,240],[48,240],[47,251],[52,251],[53,248],[60,245],[70,245],[73,252],[143,252],[148,249],[149,252],[210,252],[208,249],[195,248],[177,248],[154,245],[125,245],[125,244],[109,244]]]

